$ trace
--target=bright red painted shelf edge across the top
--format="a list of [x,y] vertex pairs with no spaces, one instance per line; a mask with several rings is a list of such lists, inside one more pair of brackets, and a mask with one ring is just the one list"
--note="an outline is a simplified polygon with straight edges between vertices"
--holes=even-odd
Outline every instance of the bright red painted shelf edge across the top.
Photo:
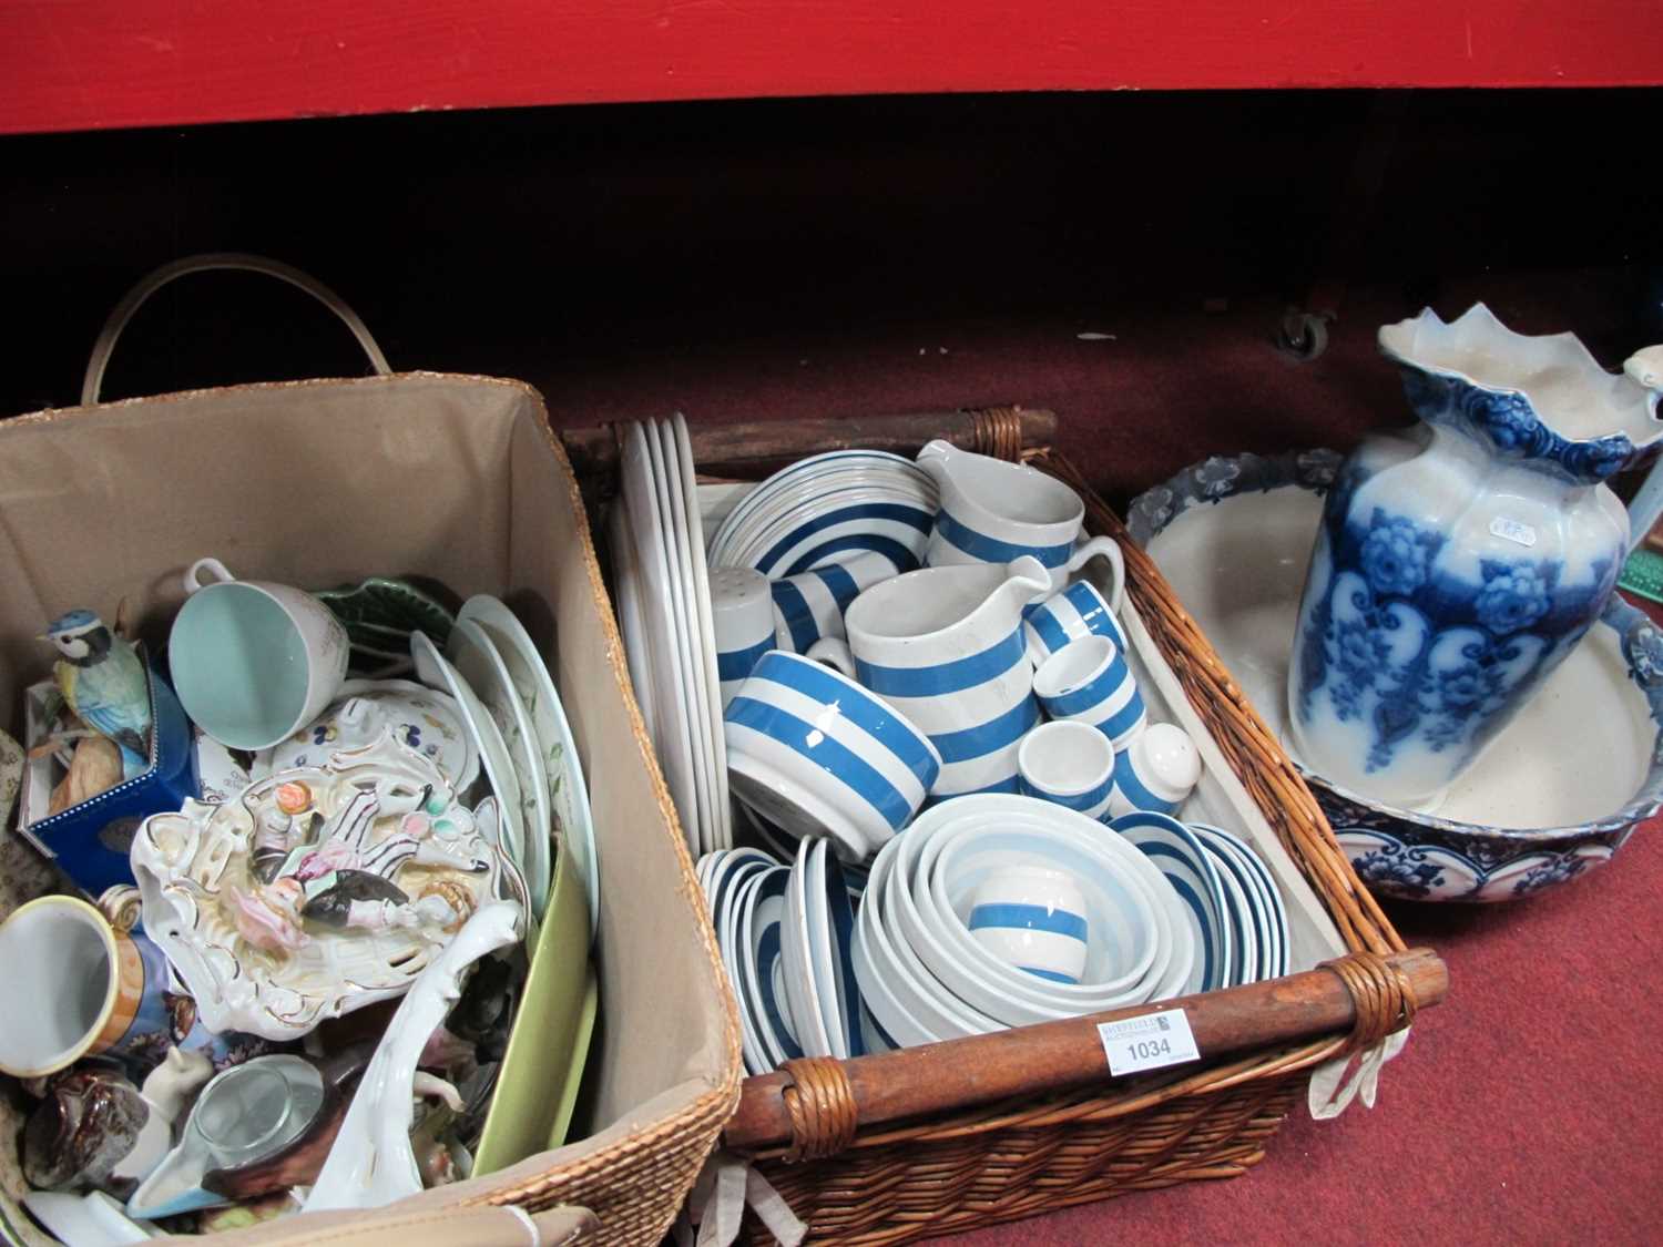
[[931,91],[1663,83],[1655,0],[0,0],[0,133]]

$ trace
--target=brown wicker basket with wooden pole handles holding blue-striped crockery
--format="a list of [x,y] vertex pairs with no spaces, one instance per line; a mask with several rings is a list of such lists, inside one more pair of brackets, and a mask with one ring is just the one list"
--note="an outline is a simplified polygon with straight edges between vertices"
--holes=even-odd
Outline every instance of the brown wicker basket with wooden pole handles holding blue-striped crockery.
[[[1063,456],[1049,412],[965,411],[695,431],[700,471],[760,479],[815,451],[915,451],[935,436],[1024,459],[1086,499],[1086,525],[1121,540],[1129,599],[1229,768],[1287,850],[1350,954],[1274,983],[1164,1003],[1186,1008],[1201,1066],[1113,1079],[1096,1024],[1121,1009],[928,1047],[805,1059],[748,1077],[723,1132],[808,1224],[812,1242],[898,1244],[1128,1190],[1234,1177],[1264,1147],[1310,1071],[1400,1029],[1447,979],[1405,951],[1315,800],[1156,565]],[[567,434],[585,485],[607,487],[610,432]],[[747,1235],[767,1230],[747,1219]]]

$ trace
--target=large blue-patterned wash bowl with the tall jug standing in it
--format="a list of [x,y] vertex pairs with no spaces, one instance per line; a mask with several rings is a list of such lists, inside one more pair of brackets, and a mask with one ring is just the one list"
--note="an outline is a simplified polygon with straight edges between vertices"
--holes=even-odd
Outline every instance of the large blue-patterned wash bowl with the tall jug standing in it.
[[[1332,451],[1212,457],[1128,514],[1179,600],[1284,748],[1287,663]],[[1603,866],[1663,808],[1663,632],[1620,597],[1425,813],[1300,766],[1362,880],[1384,896],[1508,901]]]

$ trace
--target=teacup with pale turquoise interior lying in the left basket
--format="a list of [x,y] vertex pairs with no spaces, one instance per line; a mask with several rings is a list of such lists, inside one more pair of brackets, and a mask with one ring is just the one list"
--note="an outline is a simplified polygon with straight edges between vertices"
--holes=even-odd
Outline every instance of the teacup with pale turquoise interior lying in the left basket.
[[316,597],[238,580],[218,559],[193,562],[185,592],[168,665],[180,705],[210,737],[238,750],[271,748],[334,700],[348,637]]

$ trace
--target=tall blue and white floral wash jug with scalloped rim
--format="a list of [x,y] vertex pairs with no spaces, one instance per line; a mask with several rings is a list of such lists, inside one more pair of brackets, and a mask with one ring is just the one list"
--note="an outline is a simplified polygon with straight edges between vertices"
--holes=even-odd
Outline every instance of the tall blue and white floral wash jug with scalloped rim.
[[1600,617],[1628,554],[1605,481],[1651,446],[1656,347],[1613,376],[1482,303],[1380,329],[1420,424],[1342,466],[1289,663],[1300,762],[1430,806]]

